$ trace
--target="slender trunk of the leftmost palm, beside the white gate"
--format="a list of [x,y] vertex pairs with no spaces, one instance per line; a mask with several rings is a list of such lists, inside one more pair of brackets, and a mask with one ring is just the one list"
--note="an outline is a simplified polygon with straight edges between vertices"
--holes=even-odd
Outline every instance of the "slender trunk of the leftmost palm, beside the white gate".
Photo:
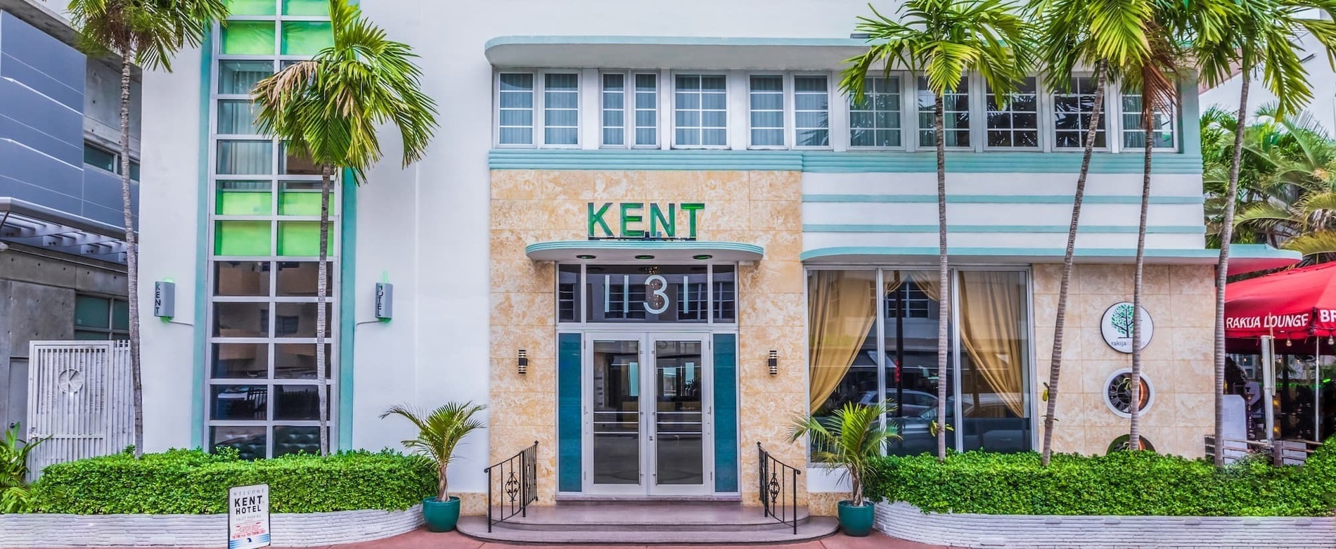
[[120,207],[126,218],[126,282],[130,305],[130,381],[134,386],[135,455],[144,453],[144,386],[139,363],[139,247],[130,188],[130,47],[120,48]]

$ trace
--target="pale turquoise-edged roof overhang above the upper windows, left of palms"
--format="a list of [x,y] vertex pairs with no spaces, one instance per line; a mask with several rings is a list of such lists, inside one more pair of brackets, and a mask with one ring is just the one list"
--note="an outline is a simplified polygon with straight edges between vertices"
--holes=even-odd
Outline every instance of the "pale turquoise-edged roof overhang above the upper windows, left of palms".
[[485,53],[496,67],[631,69],[834,69],[867,51],[848,37],[497,36]]

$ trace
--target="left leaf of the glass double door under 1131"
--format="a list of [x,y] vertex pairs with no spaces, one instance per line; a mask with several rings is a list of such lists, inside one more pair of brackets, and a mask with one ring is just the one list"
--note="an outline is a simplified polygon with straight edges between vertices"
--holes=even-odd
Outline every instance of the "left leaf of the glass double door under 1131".
[[640,341],[593,341],[592,474],[604,493],[644,492]]

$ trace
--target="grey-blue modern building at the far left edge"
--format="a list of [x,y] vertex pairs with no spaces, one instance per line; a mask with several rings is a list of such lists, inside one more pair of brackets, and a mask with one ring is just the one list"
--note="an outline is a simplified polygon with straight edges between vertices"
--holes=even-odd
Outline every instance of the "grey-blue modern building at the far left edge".
[[[63,16],[0,0],[0,419],[23,421],[28,342],[124,338],[120,63]],[[139,179],[139,75],[131,175]],[[132,194],[138,200],[138,183]]]

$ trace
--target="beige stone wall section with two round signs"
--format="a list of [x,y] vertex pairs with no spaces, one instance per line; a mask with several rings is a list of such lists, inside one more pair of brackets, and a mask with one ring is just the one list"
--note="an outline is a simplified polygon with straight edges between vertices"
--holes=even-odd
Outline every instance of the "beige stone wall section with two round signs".
[[[1105,343],[1100,319],[1109,306],[1132,301],[1132,266],[1075,266],[1063,331],[1054,451],[1104,454],[1114,438],[1128,434],[1129,421],[1105,403],[1104,386],[1114,371],[1132,367],[1132,355]],[[1046,403],[1038,394],[1049,379],[1061,277],[1061,264],[1034,266],[1035,381],[1031,386],[1041,435]],[[1144,351],[1142,373],[1153,383],[1156,395],[1141,415],[1141,433],[1160,453],[1201,457],[1205,454],[1202,437],[1214,425],[1212,267],[1148,264],[1144,277],[1142,306],[1154,322],[1154,337]]]

